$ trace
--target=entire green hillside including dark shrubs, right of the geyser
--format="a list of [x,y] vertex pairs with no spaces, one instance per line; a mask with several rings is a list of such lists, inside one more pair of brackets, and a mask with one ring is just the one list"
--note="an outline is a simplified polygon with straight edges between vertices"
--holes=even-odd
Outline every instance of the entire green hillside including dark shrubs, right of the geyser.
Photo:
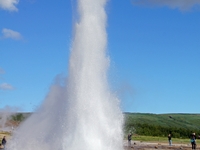
[[200,135],[200,114],[124,113],[124,131],[146,136],[188,138]]

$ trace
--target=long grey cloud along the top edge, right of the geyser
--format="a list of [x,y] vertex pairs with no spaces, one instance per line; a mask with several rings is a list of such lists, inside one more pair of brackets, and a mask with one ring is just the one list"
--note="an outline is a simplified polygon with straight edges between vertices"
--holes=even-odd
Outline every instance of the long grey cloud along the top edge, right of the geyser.
[[200,5],[200,0],[132,0],[132,3],[143,6],[167,6],[172,9],[178,8],[181,11],[185,11]]

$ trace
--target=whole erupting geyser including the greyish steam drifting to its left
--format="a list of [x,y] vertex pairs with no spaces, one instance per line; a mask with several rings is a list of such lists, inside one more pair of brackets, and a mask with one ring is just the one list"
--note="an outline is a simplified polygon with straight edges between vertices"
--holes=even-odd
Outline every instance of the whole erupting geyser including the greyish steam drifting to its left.
[[122,150],[123,116],[107,82],[106,0],[78,0],[79,18],[65,84],[8,142],[8,150]]

